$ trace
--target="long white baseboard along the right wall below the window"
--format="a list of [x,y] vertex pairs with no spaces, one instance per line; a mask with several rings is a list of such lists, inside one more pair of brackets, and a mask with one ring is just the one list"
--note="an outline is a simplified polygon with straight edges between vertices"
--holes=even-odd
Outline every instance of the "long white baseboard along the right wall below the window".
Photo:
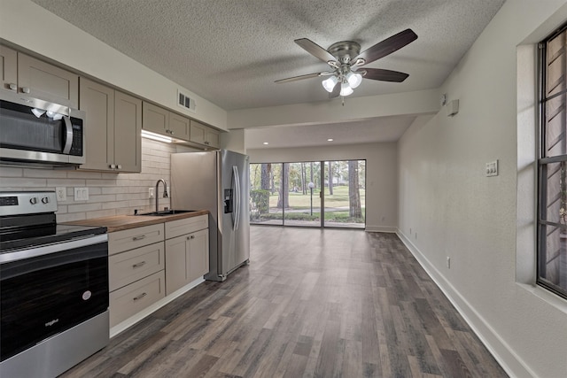
[[504,371],[510,377],[534,377],[536,376],[522,359],[509,347],[501,336],[491,327],[491,325],[470,305],[465,297],[454,288],[451,282],[448,282],[443,274],[431,264],[429,259],[423,255],[422,251],[416,247],[409,238],[404,235],[400,229],[396,231],[402,243],[406,245],[408,250],[414,255],[417,262],[423,267],[425,272],[431,277],[431,280],[437,284],[439,289],[445,294],[445,297],[454,305],[457,312],[467,322],[472,331],[478,336],[480,341],[485,345],[486,349],[491,352],[494,359],[502,366]]

